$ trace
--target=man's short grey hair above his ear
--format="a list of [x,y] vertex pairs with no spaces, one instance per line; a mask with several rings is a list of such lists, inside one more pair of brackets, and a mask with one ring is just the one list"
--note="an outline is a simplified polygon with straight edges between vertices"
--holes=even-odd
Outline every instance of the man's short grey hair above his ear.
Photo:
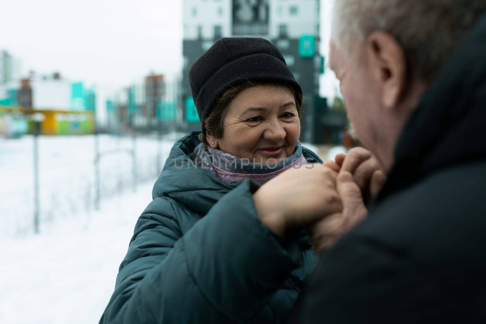
[[411,77],[430,84],[485,14],[486,0],[335,0],[332,38],[351,51],[372,32],[388,32]]

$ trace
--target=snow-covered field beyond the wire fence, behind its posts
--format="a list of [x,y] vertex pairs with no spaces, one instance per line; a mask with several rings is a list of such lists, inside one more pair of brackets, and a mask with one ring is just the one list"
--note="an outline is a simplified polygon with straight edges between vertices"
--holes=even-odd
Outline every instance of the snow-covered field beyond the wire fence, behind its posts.
[[[133,184],[153,181],[170,152],[174,136],[161,142],[137,137],[99,137],[101,204]],[[0,139],[0,236],[22,237],[33,232],[33,136]],[[41,232],[52,222],[94,209],[94,136],[40,136],[39,193]],[[133,176],[135,151],[136,179]]]

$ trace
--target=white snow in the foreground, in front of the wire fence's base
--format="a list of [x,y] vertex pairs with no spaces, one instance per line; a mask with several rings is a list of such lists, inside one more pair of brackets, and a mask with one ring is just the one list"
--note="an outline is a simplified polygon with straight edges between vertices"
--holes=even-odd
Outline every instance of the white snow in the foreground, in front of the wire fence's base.
[[40,235],[0,239],[0,323],[98,323],[153,182]]

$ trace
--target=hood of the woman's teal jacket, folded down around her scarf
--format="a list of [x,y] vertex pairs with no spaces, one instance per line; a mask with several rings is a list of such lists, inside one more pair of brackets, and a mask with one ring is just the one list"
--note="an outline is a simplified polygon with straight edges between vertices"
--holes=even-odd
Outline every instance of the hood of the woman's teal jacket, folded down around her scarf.
[[[206,214],[221,197],[241,184],[241,181],[224,182],[205,169],[195,168],[191,160],[192,152],[199,145],[200,131],[194,131],[174,143],[164,169],[152,190],[152,197],[169,197],[174,201]],[[302,147],[304,157],[313,163],[322,162],[319,157]],[[182,167],[181,167],[182,166]]]

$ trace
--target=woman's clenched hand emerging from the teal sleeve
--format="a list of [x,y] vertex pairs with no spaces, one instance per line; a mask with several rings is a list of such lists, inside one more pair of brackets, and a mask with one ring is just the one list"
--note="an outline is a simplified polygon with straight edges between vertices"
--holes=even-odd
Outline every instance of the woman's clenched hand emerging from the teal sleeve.
[[[312,169],[309,168],[312,166]],[[322,164],[289,169],[261,186],[253,201],[261,222],[278,235],[342,210],[337,173]]]

